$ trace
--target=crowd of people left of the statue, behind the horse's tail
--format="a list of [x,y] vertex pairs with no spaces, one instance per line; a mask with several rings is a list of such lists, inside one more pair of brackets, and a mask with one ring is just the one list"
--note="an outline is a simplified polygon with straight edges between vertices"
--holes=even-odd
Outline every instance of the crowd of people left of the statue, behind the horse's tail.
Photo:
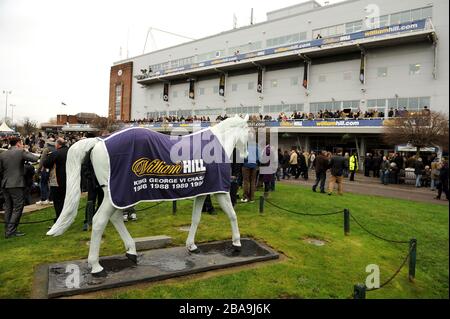
[[[25,138],[8,136],[1,140],[0,209],[5,211],[5,238],[21,237],[18,230],[24,206],[33,204],[32,195],[39,194],[36,205],[53,205],[55,219],[60,216],[66,195],[66,161],[69,147],[90,134],[30,134]],[[87,156],[81,170],[81,189],[87,192],[83,230],[87,231],[98,210],[103,191]],[[124,211],[124,220],[137,220],[133,208]]]

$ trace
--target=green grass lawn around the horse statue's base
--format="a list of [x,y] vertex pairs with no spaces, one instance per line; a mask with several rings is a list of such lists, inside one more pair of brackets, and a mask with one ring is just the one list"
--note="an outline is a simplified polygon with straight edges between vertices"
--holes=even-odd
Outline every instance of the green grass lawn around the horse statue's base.
[[[408,267],[388,286],[368,292],[367,298],[448,298],[448,207],[375,196],[345,194],[327,196],[309,188],[277,185],[271,201],[291,210],[324,213],[350,209],[373,232],[396,240],[417,238],[416,281],[408,281]],[[84,206],[84,199],[81,206]],[[139,205],[138,208],[153,204]],[[215,204],[217,208],[217,204]],[[191,201],[178,204],[172,215],[171,203],[163,203],[138,213],[139,220],[128,223],[133,237],[172,236],[173,244],[184,245],[189,225]],[[204,214],[197,243],[229,239],[230,224],[225,214]],[[342,215],[304,217],[266,205],[263,215],[258,203],[240,204],[237,209],[242,237],[263,241],[286,258],[278,262],[241,268],[213,276],[179,278],[169,282],[140,285],[107,292],[109,298],[348,298],[353,285],[365,282],[369,264],[381,270],[381,282],[389,278],[408,253],[408,245],[380,241],[351,224],[344,236]],[[26,216],[23,221],[51,218],[53,209]],[[84,212],[61,237],[46,237],[48,224],[23,225],[27,235],[0,239],[0,298],[28,298],[37,265],[87,258],[89,233],[82,232]],[[313,246],[305,238],[325,240]],[[108,225],[101,255],[124,253],[122,241]]]

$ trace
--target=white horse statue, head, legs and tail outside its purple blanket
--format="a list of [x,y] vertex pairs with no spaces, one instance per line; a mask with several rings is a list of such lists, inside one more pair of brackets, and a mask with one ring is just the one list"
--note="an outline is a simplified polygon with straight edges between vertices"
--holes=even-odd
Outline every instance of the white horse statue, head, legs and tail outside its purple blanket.
[[[248,115],[244,119],[236,115],[235,117],[229,118],[225,121],[216,124],[211,128],[204,129],[200,132],[206,132],[210,130],[210,132],[208,133],[215,136],[215,139],[221,144],[221,147],[223,148],[224,156],[228,157],[229,160],[233,154],[234,148],[237,145],[245,147],[247,144],[248,141],[247,122],[248,122]],[[140,130],[147,130],[147,129],[140,128]],[[139,134],[139,132],[142,131],[136,129],[135,134]],[[121,132],[115,134],[120,133]],[[199,132],[196,132],[188,136],[193,136],[198,133]],[[152,134],[154,134],[154,132],[152,132]],[[114,134],[112,136],[114,136]],[[75,143],[69,149],[66,164],[67,191],[64,202],[64,208],[57,222],[47,232],[47,235],[49,236],[62,235],[75,220],[81,194],[80,191],[81,164],[86,155],[88,154],[88,152],[91,151],[90,157],[94,168],[95,176],[99,184],[102,186],[105,195],[104,200],[99,210],[94,215],[92,221],[93,225],[92,225],[91,243],[89,248],[88,264],[91,267],[91,274],[95,277],[107,276],[106,271],[99,263],[99,252],[102,234],[105,230],[108,221],[111,221],[111,223],[114,225],[117,232],[119,233],[121,239],[123,240],[126,248],[126,256],[133,262],[137,263],[137,252],[135,242],[131,237],[130,233],[128,232],[127,228],[125,227],[123,221],[122,211],[124,207],[120,207],[122,209],[118,208],[118,205],[112,200],[114,194],[112,194],[113,192],[111,192],[111,188],[109,186],[110,181],[114,178],[114,176],[111,175],[111,172],[113,170],[111,169],[110,166],[111,163],[105,145],[106,143],[105,140],[99,138],[83,139]],[[132,143],[134,143],[131,140],[128,142],[129,145],[132,145]],[[126,152],[126,150],[124,151]],[[124,151],[122,151],[122,153]],[[122,171],[123,170],[127,170],[127,168],[124,167]],[[210,174],[215,173],[212,172]],[[186,240],[186,248],[188,249],[189,252],[192,253],[199,252],[197,246],[195,245],[195,234],[197,231],[198,224],[200,222],[203,203],[206,198],[205,193],[192,196],[195,198],[192,209],[192,223],[189,230],[188,238]],[[239,251],[241,247],[240,233],[236,213],[234,211],[233,205],[231,204],[230,194],[228,192],[220,192],[220,193],[216,192],[214,193],[214,195],[216,196],[222,210],[228,215],[230,219],[232,229],[232,247],[236,251]],[[158,201],[162,200],[172,201],[174,199],[164,198],[159,199]],[[134,205],[136,205],[136,203],[134,203]]]

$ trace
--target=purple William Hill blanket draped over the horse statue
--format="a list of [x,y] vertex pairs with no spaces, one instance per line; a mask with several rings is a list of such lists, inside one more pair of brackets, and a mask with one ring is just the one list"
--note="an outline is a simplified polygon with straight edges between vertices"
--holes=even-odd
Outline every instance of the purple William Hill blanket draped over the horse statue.
[[111,202],[117,209],[230,189],[229,159],[209,129],[180,137],[130,128],[103,142],[109,156]]

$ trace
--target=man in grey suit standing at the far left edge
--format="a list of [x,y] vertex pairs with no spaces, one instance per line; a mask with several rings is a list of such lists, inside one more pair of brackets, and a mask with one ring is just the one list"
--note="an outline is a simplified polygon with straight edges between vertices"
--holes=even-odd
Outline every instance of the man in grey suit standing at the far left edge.
[[25,235],[17,231],[24,206],[24,162],[37,162],[39,157],[27,152],[22,141],[12,137],[10,149],[0,154],[1,188],[5,199],[5,237]]

